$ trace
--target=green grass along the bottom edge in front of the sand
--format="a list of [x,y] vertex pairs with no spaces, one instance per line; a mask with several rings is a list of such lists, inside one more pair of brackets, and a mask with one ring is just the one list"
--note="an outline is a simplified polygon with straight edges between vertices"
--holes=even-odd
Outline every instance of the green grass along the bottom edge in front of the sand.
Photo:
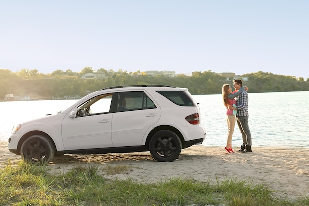
[[[157,183],[109,180],[95,164],[50,174],[48,166],[20,162],[0,170],[0,205],[5,206],[306,206],[309,196],[290,202],[264,184],[239,181],[198,182],[171,178]],[[131,167],[107,166],[113,175]]]

